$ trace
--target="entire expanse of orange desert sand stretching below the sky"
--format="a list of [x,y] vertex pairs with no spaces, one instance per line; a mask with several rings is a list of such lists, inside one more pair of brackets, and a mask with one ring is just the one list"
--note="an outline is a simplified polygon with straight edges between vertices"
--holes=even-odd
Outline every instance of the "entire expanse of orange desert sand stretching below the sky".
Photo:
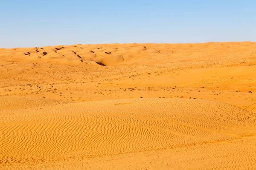
[[0,48],[0,170],[256,169],[256,43]]

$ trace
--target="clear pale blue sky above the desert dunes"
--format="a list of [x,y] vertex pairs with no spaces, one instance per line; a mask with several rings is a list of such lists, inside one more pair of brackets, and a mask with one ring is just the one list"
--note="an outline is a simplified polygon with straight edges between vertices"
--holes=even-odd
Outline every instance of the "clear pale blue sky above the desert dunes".
[[0,48],[256,42],[256,0],[1,0]]

